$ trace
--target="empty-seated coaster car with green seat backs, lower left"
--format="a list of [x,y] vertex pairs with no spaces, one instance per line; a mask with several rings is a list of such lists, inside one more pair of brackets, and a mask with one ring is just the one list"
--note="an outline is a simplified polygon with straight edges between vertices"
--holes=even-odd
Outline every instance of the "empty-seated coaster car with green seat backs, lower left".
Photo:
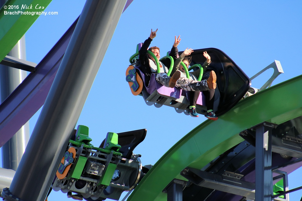
[[[130,191],[152,167],[142,166],[134,148],[146,137],[147,130],[107,133],[99,147],[88,137],[88,127],[79,125],[59,165],[51,185],[73,199],[118,200]],[[75,193],[75,194],[72,194]]]

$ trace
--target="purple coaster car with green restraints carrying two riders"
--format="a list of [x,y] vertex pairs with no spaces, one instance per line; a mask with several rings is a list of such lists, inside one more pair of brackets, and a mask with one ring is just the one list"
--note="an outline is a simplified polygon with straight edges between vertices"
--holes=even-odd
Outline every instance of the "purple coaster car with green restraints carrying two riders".
[[[155,74],[151,75],[150,83],[145,82],[145,75],[140,70],[140,61],[138,50],[142,43],[137,45],[136,54],[130,57],[130,66],[126,71],[126,81],[131,87],[133,95],[143,96],[147,105],[154,105],[159,108],[162,105],[174,107],[178,113],[184,112],[188,115],[189,96],[188,92],[179,88],[168,88],[162,86],[155,80]],[[201,75],[198,80],[205,80],[208,78],[210,71],[215,71],[217,75],[217,88],[215,90],[214,112],[217,116],[223,115],[229,111],[240,99],[246,94],[251,85],[249,77],[235,64],[235,62],[228,57],[224,52],[216,48],[197,49],[191,54],[191,68],[187,69],[184,64],[185,71],[194,70],[194,68],[202,68],[201,65],[206,61],[203,52],[211,56],[211,64],[207,70]],[[153,56],[152,52],[148,51]],[[181,54],[182,52],[179,52]],[[157,58],[153,56],[158,64]],[[165,56],[160,59],[162,63],[169,69],[168,75],[172,71],[174,60],[170,56]],[[159,65],[158,65],[159,68]],[[202,74],[203,73],[203,74]],[[186,73],[189,78],[190,74]],[[200,93],[196,110],[199,114],[205,114],[206,97]]]

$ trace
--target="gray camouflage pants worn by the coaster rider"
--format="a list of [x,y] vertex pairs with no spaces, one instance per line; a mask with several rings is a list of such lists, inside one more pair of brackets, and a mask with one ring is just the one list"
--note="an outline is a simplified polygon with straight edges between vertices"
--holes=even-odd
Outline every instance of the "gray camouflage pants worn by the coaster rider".
[[[162,85],[169,87],[170,78],[166,73],[157,73],[155,79]],[[209,90],[207,86],[207,80],[195,81],[186,77],[181,77],[176,82],[176,87],[185,91],[206,91]]]

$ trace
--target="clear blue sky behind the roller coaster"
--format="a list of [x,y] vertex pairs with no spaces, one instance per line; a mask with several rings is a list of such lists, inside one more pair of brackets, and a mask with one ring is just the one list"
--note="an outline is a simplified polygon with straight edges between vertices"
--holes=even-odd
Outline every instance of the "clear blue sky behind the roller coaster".
[[[53,0],[45,11],[57,11],[58,15],[40,16],[25,35],[27,60],[39,63],[79,16],[84,4],[84,0]],[[134,0],[120,18],[78,124],[89,127],[95,146],[107,132],[146,128],[146,139],[134,152],[142,155],[143,165],[155,164],[206,118],[178,114],[168,106],[147,106],[141,96],[130,92],[125,81],[129,57],[136,45],[148,38],[151,28],[159,29],[151,45],[159,46],[162,55],[171,49],[174,36],[181,35],[179,50],[221,49],[249,77],[279,60],[284,74],[274,85],[302,74],[301,10],[301,1]],[[253,80],[252,86],[260,88],[271,73],[267,71]],[[39,111],[30,120],[31,132],[38,115]],[[290,188],[301,185],[297,179],[301,173],[300,168],[289,175]],[[300,200],[301,196],[302,191],[290,194],[291,200]],[[52,192],[48,200],[70,201],[61,192]]]

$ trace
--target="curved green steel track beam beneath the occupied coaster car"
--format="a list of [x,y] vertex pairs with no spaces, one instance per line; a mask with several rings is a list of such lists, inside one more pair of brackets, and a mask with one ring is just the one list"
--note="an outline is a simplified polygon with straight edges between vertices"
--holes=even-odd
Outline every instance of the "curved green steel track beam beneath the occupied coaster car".
[[140,181],[128,201],[166,201],[162,190],[185,167],[203,168],[217,156],[243,141],[239,132],[264,121],[281,124],[302,115],[302,75],[256,93],[217,121],[207,120],[166,152]]

